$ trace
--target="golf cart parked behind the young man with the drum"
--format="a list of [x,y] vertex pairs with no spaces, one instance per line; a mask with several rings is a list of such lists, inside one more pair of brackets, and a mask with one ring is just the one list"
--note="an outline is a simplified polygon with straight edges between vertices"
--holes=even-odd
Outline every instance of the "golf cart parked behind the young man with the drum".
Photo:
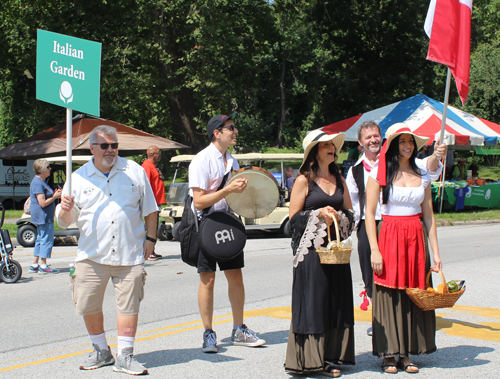
[[[264,162],[278,161],[274,169],[268,169],[278,182],[280,187],[280,198],[276,208],[268,215],[260,218],[242,217],[243,224],[247,231],[261,230],[269,233],[282,233],[285,237],[291,236],[290,224],[288,221],[288,206],[289,203],[285,201],[287,198],[287,191],[284,186],[284,178],[282,173],[284,170],[284,162],[302,161],[303,154],[232,154],[232,156],[240,162],[240,166],[254,165],[262,167]],[[160,217],[164,218],[159,227],[159,238],[161,240],[176,239],[179,240],[178,230],[184,211],[184,202],[189,192],[188,183],[175,183],[179,168],[188,167],[194,155],[178,155],[173,157],[170,162],[177,163],[177,169],[174,174],[172,185],[167,194],[167,205],[162,208]],[[297,171],[297,170],[295,170]]]

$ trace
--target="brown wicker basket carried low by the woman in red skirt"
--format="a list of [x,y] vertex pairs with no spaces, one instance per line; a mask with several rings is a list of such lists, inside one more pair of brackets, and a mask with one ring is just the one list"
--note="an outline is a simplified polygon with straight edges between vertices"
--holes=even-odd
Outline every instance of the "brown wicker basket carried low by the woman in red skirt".
[[[465,291],[465,286],[463,286],[460,291],[450,293],[443,273],[441,271],[439,271],[439,273],[441,274],[441,279],[443,279],[444,294],[422,290],[420,288],[406,289],[406,293],[410,299],[423,311],[432,311],[437,308],[451,308]],[[426,288],[430,287],[430,277],[431,271],[429,271],[425,279]]]

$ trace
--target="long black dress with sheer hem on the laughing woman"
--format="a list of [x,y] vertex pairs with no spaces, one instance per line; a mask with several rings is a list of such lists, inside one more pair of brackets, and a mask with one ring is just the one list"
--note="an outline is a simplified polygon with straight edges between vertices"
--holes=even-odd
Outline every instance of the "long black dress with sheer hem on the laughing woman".
[[[312,182],[304,211],[327,205],[338,211],[343,202],[338,187],[330,196]],[[335,231],[332,230],[332,239],[334,235]],[[328,241],[325,238],[326,243]],[[351,267],[349,264],[322,265],[314,245],[307,251],[303,261],[293,270],[292,325],[285,369],[298,373],[321,371],[325,361],[354,364]]]

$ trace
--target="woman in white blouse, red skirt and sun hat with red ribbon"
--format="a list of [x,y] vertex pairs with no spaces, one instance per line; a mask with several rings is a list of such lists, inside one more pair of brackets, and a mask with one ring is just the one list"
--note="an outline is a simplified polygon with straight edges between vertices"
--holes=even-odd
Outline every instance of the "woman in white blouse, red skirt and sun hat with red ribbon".
[[[415,164],[418,150],[429,139],[412,133],[403,123],[391,126],[386,138],[366,187],[365,222],[374,272],[373,354],[384,358],[384,372],[396,373],[400,368],[416,373],[418,367],[408,356],[436,350],[436,316],[416,306],[405,289],[425,289],[427,272],[442,268],[429,174]],[[382,223],[377,238],[379,201]],[[427,242],[433,253],[432,268]]]

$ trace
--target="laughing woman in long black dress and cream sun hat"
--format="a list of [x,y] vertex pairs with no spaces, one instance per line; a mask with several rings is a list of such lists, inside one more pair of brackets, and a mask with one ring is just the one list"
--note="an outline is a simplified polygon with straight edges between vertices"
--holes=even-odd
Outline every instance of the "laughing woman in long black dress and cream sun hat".
[[[290,200],[293,288],[292,325],[285,369],[338,377],[334,364],[354,364],[354,304],[349,264],[321,264],[316,249],[328,243],[326,228],[339,221],[341,239],[354,226],[344,178],[335,164],[344,134],[310,132]],[[331,230],[332,240],[336,238]],[[335,236],[335,237],[334,237]]]

